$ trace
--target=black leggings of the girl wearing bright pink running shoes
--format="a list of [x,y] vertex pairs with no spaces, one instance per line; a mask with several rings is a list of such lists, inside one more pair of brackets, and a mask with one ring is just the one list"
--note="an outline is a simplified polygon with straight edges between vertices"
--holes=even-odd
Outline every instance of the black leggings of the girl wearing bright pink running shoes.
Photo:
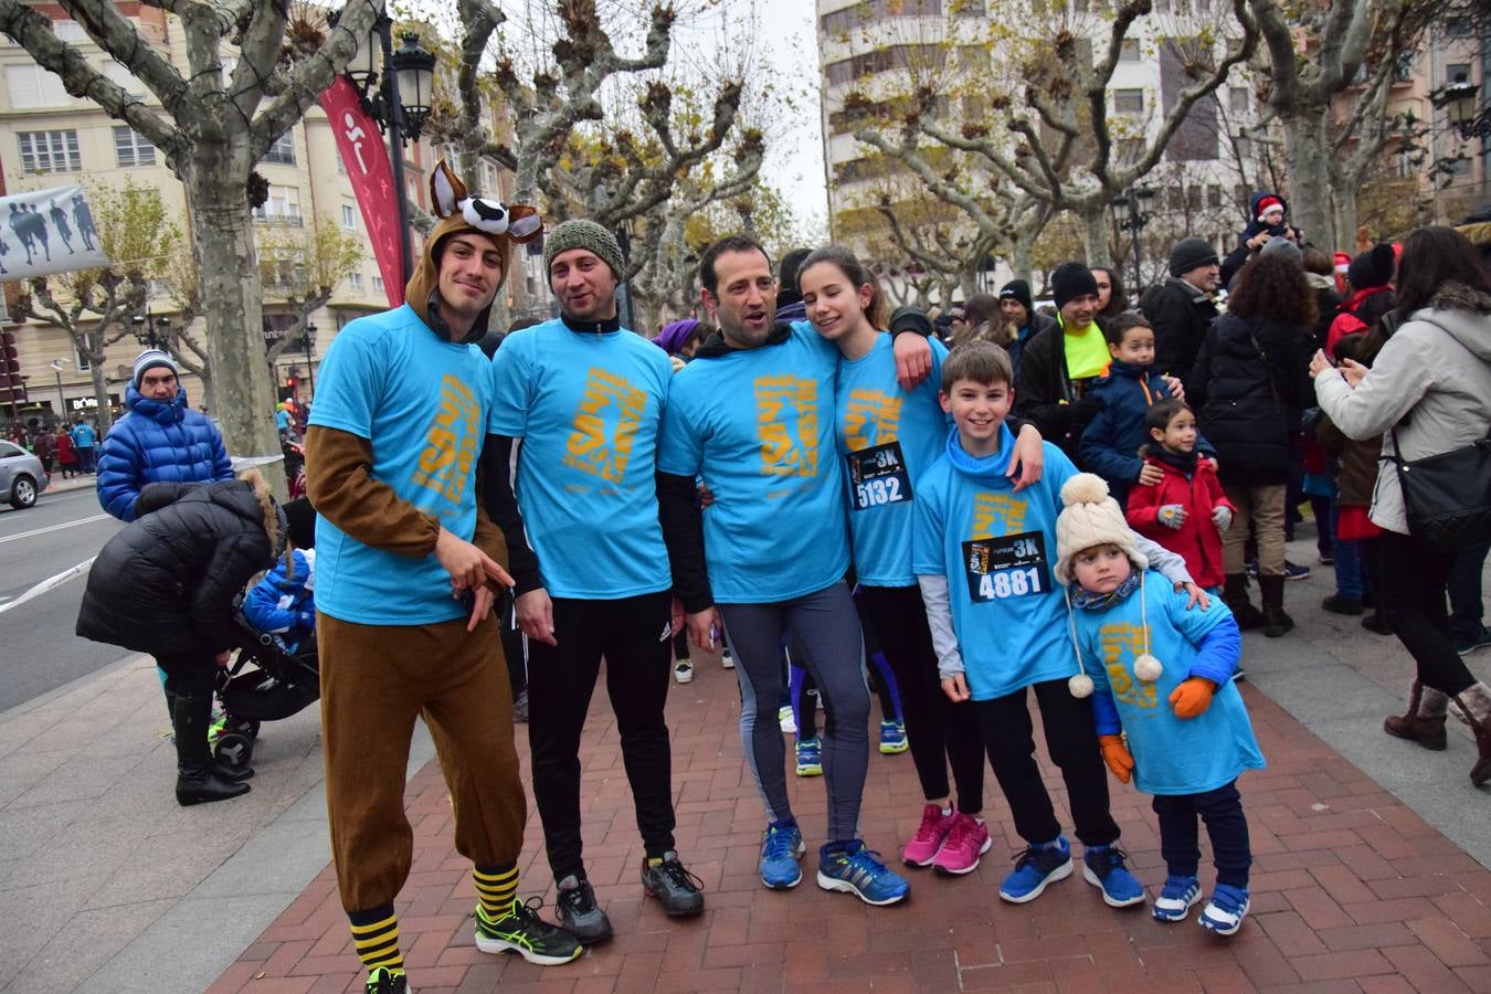
[[974,705],[953,703],[942,693],[921,590],[862,586],[859,602],[862,618],[875,626],[901,688],[901,711],[921,796],[939,800],[953,793],[947,782],[951,763],[957,809],[977,815],[984,809],[984,742]]

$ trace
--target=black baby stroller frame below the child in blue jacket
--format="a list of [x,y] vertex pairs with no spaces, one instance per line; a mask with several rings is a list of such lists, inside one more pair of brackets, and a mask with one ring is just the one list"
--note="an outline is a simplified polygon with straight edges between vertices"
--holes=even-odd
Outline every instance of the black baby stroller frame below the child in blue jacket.
[[242,617],[245,645],[218,678],[222,718],[209,738],[213,756],[236,769],[253,759],[262,721],[282,721],[321,697],[316,636],[289,647],[276,635],[256,632]]

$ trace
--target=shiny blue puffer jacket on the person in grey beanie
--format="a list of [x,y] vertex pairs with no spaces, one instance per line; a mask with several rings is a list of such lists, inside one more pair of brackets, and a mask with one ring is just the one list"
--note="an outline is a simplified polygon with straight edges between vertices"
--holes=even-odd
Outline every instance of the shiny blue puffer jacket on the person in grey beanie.
[[231,480],[233,463],[222,434],[186,404],[186,390],[170,401],[124,393],[130,413],[113,423],[98,453],[98,504],[121,522],[134,520],[134,502],[146,483],[212,483]]

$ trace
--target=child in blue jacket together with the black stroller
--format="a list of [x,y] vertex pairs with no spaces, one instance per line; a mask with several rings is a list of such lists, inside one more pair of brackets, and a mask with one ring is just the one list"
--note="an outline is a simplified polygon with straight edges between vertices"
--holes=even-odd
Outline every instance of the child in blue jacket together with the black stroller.
[[294,547],[242,596],[245,645],[219,677],[222,717],[210,732],[213,756],[231,769],[253,759],[262,721],[288,718],[321,697],[315,517],[301,528],[310,547]]

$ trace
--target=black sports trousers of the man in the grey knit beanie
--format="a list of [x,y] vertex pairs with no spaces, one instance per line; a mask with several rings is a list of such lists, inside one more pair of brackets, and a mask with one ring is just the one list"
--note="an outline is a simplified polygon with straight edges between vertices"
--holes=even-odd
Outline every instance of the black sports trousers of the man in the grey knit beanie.
[[559,644],[528,644],[528,742],[549,866],[555,879],[564,879],[584,872],[580,732],[602,656],[643,848],[652,857],[674,848],[672,754],[663,717],[672,659],[669,639],[658,638],[671,618],[672,593],[620,601],[555,598],[553,605]]

